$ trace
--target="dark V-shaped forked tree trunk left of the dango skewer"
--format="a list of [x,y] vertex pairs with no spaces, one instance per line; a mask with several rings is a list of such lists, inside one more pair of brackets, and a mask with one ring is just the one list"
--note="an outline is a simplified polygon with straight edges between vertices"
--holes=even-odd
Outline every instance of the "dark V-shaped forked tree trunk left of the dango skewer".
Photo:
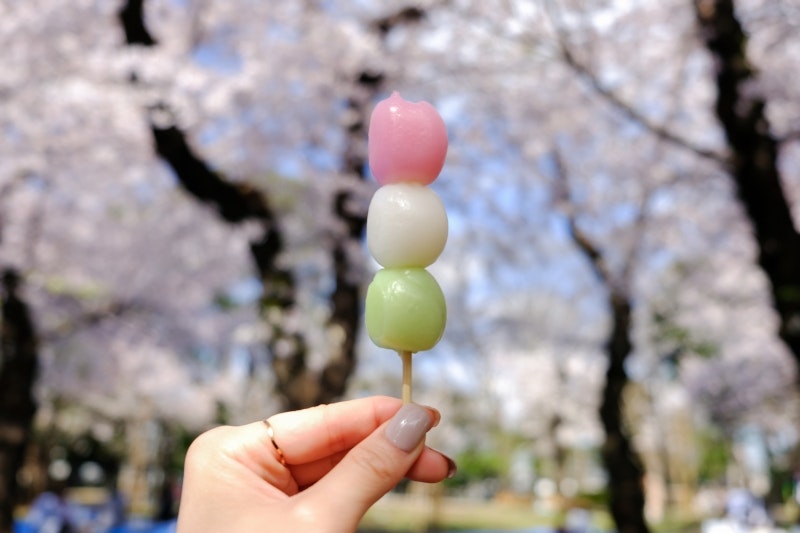
[[[153,46],[143,19],[143,0],[128,0],[119,12],[128,45]],[[372,25],[381,38],[399,24],[411,24],[425,15],[418,8],[401,8]],[[384,75],[365,69],[354,79],[348,98],[347,116],[354,117],[344,124],[348,144],[344,154],[343,171],[355,180],[366,178],[364,149],[371,102],[377,95]],[[136,80],[136,76],[132,76]],[[162,104],[161,111],[169,111]],[[278,266],[283,252],[283,236],[279,221],[269,205],[269,198],[246,183],[232,183],[214,172],[189,146],[185,134],[175,126],[152,125],[156,152],[172,167],[183,188],[197,200],[213,205],[220,216],[230,223],[257,221],[263,228],[260,239],[251,244],[254,264],[262,281],[261,310],[271,329],[268,351],[276,388],[287,409],[301,409],[319,403],[329,403],[341,397],[356,365],[355,343],[361,325],[362,266],[354,263],[350,250],[357,249],[366,224],[366,211],[354,208],[352,192],[343,189],[333,197],[333,213],[346,228],[333,236],[331,255],[335,286],[330,295],[331,315],[327,327],[340,333],[339,342],[321,371],[306,364],[307,345],[302,335],[285,330],[280,318],[290,313],[296,304],[296,286],[292,272]],[[280,347],[281,354],[278,355]]]

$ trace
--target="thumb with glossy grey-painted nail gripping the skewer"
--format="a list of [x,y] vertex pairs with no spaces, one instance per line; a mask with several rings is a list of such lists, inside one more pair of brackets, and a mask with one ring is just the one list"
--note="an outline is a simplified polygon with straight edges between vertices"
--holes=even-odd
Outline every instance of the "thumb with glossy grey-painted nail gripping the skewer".
[[408,403],[351,449],[328,475],[303,494],[355,529],[361,517],[406,475],[434,425],[426,408]]

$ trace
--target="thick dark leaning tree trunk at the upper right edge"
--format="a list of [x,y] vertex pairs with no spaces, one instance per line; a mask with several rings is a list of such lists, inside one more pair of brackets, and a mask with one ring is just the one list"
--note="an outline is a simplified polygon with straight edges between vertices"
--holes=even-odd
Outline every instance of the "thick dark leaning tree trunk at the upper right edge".
[[728,168],[751,221],[758,263],[771,284],[779,334],[800,362],[800,234],[781,184],[779,142],[747,57],[733,0],[695,0],[700,37],[716,66],[715,111],[725,131]]

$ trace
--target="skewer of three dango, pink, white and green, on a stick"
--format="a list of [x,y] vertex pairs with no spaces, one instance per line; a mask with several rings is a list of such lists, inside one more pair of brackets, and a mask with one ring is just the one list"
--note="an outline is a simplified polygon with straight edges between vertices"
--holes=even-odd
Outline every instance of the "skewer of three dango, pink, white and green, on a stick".
[[447,155],[444,121],[427,102],[397,92],[379,102],[369,124],[369,164],[381,185],[367,213],[367,247],[384,268],[369,287],[370,339],[403,359],[403,401],[411,401],[411,355],[431,349],[447,320],[439,284],[425,269],[444,249],[447,213],[427,186]]

